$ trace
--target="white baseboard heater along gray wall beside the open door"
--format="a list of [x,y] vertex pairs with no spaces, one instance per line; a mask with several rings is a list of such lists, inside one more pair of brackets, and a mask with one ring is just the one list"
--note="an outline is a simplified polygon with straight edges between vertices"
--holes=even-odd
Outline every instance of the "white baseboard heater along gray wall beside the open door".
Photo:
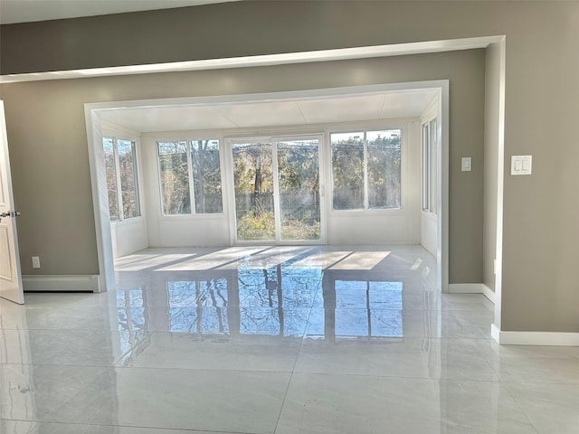
[[100,292],[99,281],[98,275],[28,275],[22,277],[24,291],[28,292]]

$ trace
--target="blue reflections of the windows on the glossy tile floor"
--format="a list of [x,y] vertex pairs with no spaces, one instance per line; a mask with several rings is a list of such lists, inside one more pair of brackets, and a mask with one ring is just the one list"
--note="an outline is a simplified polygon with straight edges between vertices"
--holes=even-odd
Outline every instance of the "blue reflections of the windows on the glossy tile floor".
[[[403,336],[403,283],[359,279],[352,271],[297,268],[296,260],[214,271],[166,282],[166,329],[198,337],[274,335],[311,339]],[[195,273],[197,276],[195,276]],[[146,330],[147,290],[117,292],[119,329]],[[159,320],[157,318],[157,323]]]

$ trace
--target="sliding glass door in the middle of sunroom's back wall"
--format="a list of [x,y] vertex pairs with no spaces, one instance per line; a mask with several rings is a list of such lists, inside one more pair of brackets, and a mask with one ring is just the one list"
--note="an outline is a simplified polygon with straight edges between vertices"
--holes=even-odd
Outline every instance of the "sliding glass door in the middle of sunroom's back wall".
[[323,242],[321,137],[230,141],[235,240]]

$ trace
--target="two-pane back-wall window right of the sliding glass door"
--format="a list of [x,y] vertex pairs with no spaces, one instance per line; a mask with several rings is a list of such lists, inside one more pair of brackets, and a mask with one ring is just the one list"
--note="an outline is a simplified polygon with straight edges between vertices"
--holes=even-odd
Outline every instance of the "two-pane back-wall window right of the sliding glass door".
[[332,133],[335,210],[401,207],[402,130]]

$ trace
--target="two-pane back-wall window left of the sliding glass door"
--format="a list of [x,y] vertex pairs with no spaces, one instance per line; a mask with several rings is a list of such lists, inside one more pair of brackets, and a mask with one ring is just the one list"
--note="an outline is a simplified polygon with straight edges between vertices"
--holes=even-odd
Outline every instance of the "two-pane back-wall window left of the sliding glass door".
[[219,140],[157,142],[163,213],[223,212]]

